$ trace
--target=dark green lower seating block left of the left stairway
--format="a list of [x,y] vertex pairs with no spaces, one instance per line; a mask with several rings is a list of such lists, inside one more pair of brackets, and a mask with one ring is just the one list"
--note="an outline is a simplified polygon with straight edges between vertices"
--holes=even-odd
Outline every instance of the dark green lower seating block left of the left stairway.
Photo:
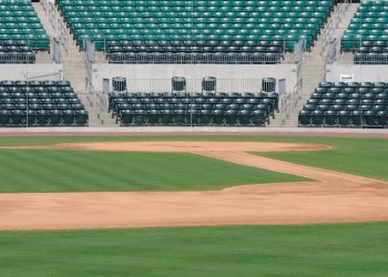
[[84,126],[89,115],[67,81],[0,81],[0,126]]

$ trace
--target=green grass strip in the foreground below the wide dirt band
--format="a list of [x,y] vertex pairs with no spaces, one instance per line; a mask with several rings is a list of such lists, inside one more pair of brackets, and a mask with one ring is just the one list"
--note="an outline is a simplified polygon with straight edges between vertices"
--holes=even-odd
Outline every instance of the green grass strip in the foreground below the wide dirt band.
[[388,223],[0,232],[1,276],[387,276]]

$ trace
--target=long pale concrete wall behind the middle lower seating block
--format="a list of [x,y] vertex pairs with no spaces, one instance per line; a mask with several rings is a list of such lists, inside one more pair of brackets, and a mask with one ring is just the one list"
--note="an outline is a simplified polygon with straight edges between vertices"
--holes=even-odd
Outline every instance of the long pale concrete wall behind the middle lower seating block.
[[[257,80],[247,91],[258,91],[257,83],[263,78],[286,79],[286,89],[292,91],[296,84],[295,64],[103,64],[92,66],[92,84],[96,91],[102,91],[103,79],[124,76],[129,86],[135,80],[165,80],[173,76],[185,76],[187,80],[202,80],[204,76],[215,76],[218,91],[227,91],[228,83],[223,80]],[[132,80],[132,81],[131,81]],[[145,81],[146,83],[146,81]],[[224,85],[223,85],[224,84]],[[150,86],[151,88],[151,86]],[[245,86],[244,86],[245,88]]]

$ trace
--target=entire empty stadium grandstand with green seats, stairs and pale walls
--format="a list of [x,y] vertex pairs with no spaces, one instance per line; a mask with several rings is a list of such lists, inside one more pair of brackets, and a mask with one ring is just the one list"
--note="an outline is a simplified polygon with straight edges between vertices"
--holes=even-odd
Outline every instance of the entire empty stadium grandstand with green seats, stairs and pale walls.
[[0,126],[386,127],[387,7],[0,0]]

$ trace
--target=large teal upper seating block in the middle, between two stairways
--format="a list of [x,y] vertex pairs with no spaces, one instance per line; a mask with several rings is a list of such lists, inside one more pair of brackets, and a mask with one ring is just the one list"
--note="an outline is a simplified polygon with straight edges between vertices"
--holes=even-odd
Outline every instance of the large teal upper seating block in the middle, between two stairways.
[[[334,0],[59,0],[81,49],[85,39],[111,62],[278,62],[309,49]],[[123,55],[129,53],[127,55]]]

